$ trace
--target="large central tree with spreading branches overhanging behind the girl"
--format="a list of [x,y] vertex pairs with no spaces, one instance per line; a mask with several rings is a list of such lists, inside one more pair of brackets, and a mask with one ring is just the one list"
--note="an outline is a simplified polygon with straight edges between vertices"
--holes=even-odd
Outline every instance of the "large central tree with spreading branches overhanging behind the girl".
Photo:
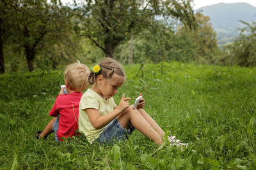
[[108,57],[113,57],[116,46],[148,27],[156,17],[180,18],[193,27],[193,10],[190,1],[158,0],[86,0],[76,8],[77,33],[89,38]]

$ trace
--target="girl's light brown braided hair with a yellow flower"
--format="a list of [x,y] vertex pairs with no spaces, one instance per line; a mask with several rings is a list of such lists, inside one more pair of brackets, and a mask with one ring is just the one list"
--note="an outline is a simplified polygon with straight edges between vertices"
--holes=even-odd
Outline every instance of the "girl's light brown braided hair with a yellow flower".
[[107,57],[106,59],[102,60],[102,62],[100,62],[99,66],[99,73],[93,73],[93,70],[90,72],[88,77],[90,85],[95,82],[95,79],[97,79],[99,75],[102,75],[106,79],[112,78],[114,73],[118,74],[118,76],[125,77],[124,69],[114,59]]

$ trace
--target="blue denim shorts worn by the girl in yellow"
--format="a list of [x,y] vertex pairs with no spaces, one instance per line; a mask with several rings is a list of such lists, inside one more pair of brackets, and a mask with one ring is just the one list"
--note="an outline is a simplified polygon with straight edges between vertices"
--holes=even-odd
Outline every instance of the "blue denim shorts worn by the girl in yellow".
[[118,122],[117,118],[112,120],[107,127],[101,132],[99,138],[95,139],[93,143],[106,143],[113,144],[115,142],[124,141],[132,134],[135,128],[130,124],[125,130],[124,127]]

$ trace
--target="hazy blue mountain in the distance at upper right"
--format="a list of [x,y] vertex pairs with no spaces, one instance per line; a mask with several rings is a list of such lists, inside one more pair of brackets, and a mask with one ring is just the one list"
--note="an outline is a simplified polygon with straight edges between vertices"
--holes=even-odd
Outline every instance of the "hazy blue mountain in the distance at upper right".
[[212,27],[217,33],[218,45],[230,43],[239,35],[238,28],[245,26],[239,20],[256,22],[256,7],[248,3],[218,3],[196,10],[199,11],[210,17]]

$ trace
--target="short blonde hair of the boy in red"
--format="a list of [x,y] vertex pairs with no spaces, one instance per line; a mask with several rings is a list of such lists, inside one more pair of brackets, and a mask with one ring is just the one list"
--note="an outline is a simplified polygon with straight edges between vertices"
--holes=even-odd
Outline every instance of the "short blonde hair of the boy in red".
[[88,67],[78,62],[69,64],[64,71],[65,80],[67,80],[70,89],[77,92],[88,87],[89,74]]

